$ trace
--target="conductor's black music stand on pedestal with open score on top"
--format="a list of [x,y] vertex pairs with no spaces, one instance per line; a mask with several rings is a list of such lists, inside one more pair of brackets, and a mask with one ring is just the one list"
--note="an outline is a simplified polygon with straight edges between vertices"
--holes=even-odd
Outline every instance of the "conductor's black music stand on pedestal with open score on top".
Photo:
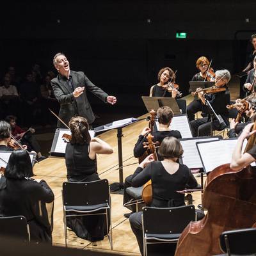
[[[134,124],[135,122],[140,121],[139,119],[136,119],[136,118],[128,118],[128,119],[131,119],[131,121],[125,124],[120,123],[118,125],[117,124],[115,125],[115,122],[113,122],[106,125],[95,127],[94,129],[96,134],[98,132],[105,132],[111,129],[117,130],[116,135],[117,135],[117,147],[118,147],[119,182],[113,182],[109,186],[111,193],[115,193],[115,194],[124,193],[124,172],[123,172],[123,152],[122,152],[122,137],[124,136],[123,128],[127,125]],[[144,120],[144,119],[141,119],[141,120]]]

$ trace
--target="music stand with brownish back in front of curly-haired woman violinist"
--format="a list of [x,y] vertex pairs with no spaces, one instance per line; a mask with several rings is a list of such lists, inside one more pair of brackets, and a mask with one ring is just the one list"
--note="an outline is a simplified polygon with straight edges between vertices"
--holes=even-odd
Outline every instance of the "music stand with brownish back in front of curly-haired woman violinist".
[[158,108],[163,106],[168,106],[172,109],[174,115],[180,115],[180,108],[177,104],[177,101],[172,97],[150,97],[150,96],[141,96],[147,111],[150,112],[152,109],[157,111]]

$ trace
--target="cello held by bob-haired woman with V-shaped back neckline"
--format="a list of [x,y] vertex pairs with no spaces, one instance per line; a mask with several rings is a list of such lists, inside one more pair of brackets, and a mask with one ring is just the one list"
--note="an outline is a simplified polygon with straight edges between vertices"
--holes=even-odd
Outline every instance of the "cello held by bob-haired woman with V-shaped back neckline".
[[[148,134],[148,136],[147,136],[148,143],[144,147],[148,147],[150,150],[150,154],[153,154],[155,161],[158,161],[155,145],[159,144],[159,142],[157,141],[156,143],[154,143],[153,138],[154,138],[154,136],[152,136],[152,134]],[[146,205],[151,204],[152,199],[153,199],[152,196],[153,196],[152,181],[148,180],[148,182],[143,185],[143,189],[142,189],[142,199]]]

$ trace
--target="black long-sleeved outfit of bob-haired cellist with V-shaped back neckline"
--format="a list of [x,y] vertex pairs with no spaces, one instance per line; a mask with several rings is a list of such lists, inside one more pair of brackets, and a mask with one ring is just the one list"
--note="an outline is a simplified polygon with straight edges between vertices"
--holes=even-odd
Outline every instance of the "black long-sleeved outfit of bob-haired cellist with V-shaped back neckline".
[[[184,188],[196,188],[197,182],[189,168],[184,164],[179,164],[177,172],[170,174],[165,169],[161,162],[153,162],[148,164],[144,169],[138,167],[132,177],[132,186],[140,187],[148,180],[152,180],[152,194],[153,200],[150,206],[152,207],[178,207],[185,205],[184,195],[177,193],[178,190]],[[142,212],[135,212],[129,218],[132,232],[136,236],[138,245],[140,247],[141,255],[143,255],[143,234],[142,234]],[[161,246],[154,245],[150,248],[150,255],[173,255],[175,252],[175,244],[161,244]]]

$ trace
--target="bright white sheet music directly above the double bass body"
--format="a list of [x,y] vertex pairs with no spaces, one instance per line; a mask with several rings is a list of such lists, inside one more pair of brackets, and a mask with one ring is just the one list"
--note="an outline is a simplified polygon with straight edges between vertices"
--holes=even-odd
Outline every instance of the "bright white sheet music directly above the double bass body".
[[[230,163],[236,143],[237,139],[198,143],[197,148],[204,163],[205,172],[211,172],[221,164]],[[246,144],[247,140],[243,143],[242,152],[244,152]]]

